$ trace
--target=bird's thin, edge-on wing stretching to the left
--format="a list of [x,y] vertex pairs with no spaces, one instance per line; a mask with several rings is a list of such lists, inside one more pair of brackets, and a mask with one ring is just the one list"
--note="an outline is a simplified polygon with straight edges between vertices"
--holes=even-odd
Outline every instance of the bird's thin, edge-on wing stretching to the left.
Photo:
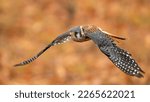
[[42,55],[51,46],[62,44],[66,41],[69,41],[70,39],[71,39],[71,36],[68,33],[61,34],[55,40],[53,40],[49,45],[47,45],[43,50],[41,50],[38,54],[36,54],[35,56],[33,56],[21,63],[15,64],[14,66],[23,66],[23,65],[29,64],[29,63],[33,62],[35,59],[37,59],[40,55]]

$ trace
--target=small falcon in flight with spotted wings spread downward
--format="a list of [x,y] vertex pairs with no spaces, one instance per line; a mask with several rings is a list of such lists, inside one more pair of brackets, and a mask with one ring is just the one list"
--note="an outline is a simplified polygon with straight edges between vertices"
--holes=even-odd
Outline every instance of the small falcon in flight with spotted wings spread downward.
[[75,26],[67,32],[60,34],[37,55],[14,66],[29,64],[43,54],[48,48],[62,44],[66,41],[73,40],[76,42],[84,42],[92,40],[97,47],[114,63],[114,65],[124,73],[138,78],[143,77],[144,71],[135,62],[129,52],[115,44],[114,39],[125,40],[123,37],[118,37],[105,32],[101,28],[94,25]]

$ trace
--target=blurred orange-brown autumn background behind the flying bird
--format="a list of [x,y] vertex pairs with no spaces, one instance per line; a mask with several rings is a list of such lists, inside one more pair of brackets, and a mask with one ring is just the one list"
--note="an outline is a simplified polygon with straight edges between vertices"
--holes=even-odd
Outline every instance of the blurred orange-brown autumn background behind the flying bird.
[[[150,84],[149,0],[0,0],[0,84]],[[54,46],[32,57],[59,34],[93,24],[126,37],[128,50],[146,72],[124,74],[92,41]]]

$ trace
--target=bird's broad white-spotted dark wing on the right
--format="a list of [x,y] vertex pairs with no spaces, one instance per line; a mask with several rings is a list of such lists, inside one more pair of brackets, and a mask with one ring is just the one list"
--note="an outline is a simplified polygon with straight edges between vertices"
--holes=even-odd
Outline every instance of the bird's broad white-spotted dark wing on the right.
[[95,32],[87,34],[87,36],[124,73],[138,78],[143,77],[144,71],[138,66],[131,54],[118,47],[109,35],[103,32]]

